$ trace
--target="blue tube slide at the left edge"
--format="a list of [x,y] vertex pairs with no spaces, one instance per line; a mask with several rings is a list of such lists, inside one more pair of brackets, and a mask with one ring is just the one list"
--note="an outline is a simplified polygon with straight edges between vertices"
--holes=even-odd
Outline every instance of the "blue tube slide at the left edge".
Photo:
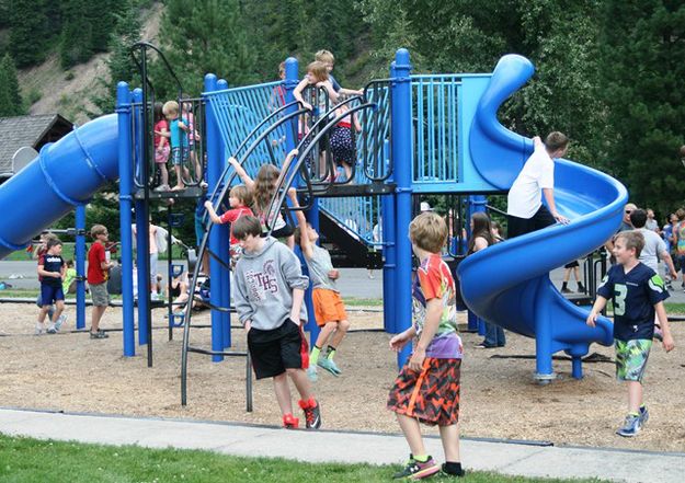
[[118,177],[115,114],[99,117],[41,149],[38,157],[0,186],[0,260],[88,203]]

